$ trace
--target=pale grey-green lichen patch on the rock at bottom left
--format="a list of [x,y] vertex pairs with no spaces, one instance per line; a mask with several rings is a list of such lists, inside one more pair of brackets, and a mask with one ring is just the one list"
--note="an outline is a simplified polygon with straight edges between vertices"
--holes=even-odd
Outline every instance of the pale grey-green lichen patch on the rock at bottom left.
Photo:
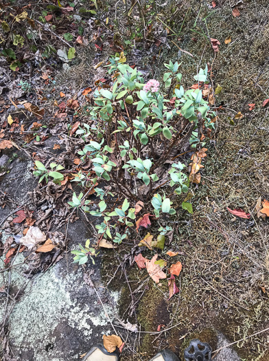
[[[23,254],[19,254],[14,262],[23,262]],[[23,267],[23,268],[22,268]],[[29,282],[22,274],[25,265],[15,267],[12,271],[12,287],[21,287]],[[91,344],[91,335],[97,336],[95,327],[105,327],[109,324],[105,311],[98,303],[98,298],[89,289],[89,296],[85,296],[87,287],[82,281],[82,270],[70,270],[62,276],[63,266],[58,263],[43,274],[37,274],[28,283],[23,297],[16,304],[10,316],[10,340],[14,349],[34,351],[31,361],[57,360],[66,361],[77,359],[78,355],[63,354],[62,348],[57,347],[59,338],[66,338],[65,325],[74,329],[76,334]],[[8,272],[7,272],[8,276]],[[98,288],[97,288],[98,289]],[[102,288],[100,289],[102,292]],[[80,296],[84,296],[80,299]],[[110,303],[105,303],[106,312],[113,319],[115,305],[119,294],[112,292]],[[89,303],[85,303],[85,299]],[[59,325],[60,332],[59,334]],[[78,332],[79,331],[79,332]],[[106,333],[108,330],[106,330]],[[57,335],[57,336],[56,336]],[[102,335],[100,333],[100,340]],[[48,343],[54,343],[54,349],[46,351]],[[28,361],[28,360],[24,360]],[[30,360],[29,360],[30,361]]]

